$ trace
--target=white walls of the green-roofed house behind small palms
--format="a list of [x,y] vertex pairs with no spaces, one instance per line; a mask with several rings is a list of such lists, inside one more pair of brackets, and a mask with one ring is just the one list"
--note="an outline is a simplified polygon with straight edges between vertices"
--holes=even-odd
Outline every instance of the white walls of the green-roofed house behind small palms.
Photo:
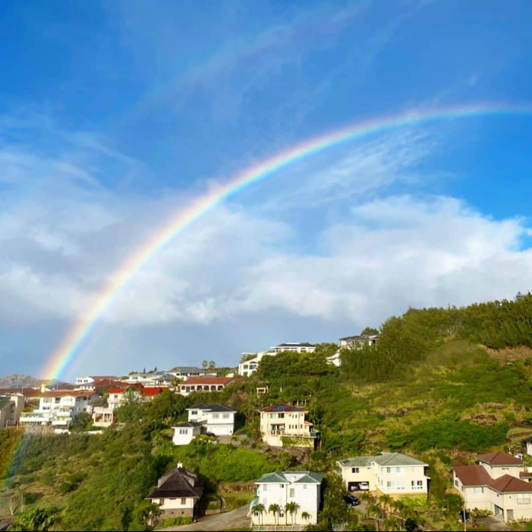
[[[277,484],[267,483],[259,484],[257,488],[257,497],[259,502],[264,506],[266,512],[270,504],[278,504],[281,508],[285,508],[289,502],[297,503],[297,513],[294,514],[294,522],[297,525],[315,525],[318,522],[318,511],[320,508],[321,485],[320,484]],[[305,487],[306,486],[306,487]],[[290,496],[290,489],[294,490],[294,496]],[[301,514],[307,512],[311,519],[305,521]],[[263,513],[261,516],[255,516],[252,512],[253,525],[275,525],[276,519],[279,525],[291,525],[292,518],[288,512],[284,512],[284,517],[275,517],[272,513]]]

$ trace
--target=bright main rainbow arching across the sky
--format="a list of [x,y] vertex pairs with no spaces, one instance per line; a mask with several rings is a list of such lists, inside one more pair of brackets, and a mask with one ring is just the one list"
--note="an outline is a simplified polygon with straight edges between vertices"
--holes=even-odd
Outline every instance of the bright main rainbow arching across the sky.
[[94,330],[99,319],[135,273],[159,250],[171,242],[173,238],[176,238],[182,231],[215,206],[231,196],[238,194],[241,190],[271,176],[271,174],[290,164],[305,159],[305,157],[322,152],[332,146],[337,146],[368,135],[386,132],[404,126],[417,126],[423,123],[442,120],[531,113],[532,105],[530,104],[505,105],[493,103],[408,111],[356,122],[340,129],[318,135],[252,165],[236,174],[236,176],[224,184],[216,185],[202,196],[197,197],[186,209],[179,211],[167,223],[156,230],[146,242],[140,245],[121,264],[120,268],[107,280],[102,291],[96,295],[86,312],[81,315],[80,319],[67,332],[61,344],[43,368],[41,373],[42,377],[60,378],[64,375],[69,365],[80,354],[85,340]]

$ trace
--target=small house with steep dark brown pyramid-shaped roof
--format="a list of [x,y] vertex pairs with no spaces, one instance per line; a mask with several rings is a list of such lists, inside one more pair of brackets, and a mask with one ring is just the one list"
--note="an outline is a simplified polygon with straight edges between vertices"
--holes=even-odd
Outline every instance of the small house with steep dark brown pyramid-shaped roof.
[[159,506],[163,518],[193,517],[202,494],[198,476],[178,463],[177,469],[163,475],[146,498]]

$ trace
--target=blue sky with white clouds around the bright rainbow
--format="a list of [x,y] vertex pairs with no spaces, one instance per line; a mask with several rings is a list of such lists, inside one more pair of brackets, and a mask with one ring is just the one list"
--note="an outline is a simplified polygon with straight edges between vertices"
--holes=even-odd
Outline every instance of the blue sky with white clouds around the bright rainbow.
[[[532,104],[528,2],[7,2],[0,362],[37,374],[113,270],[213,182],[347,123]],[[336,340],[532,285],[532,116],[293,164],[138,272],[68,377]]]

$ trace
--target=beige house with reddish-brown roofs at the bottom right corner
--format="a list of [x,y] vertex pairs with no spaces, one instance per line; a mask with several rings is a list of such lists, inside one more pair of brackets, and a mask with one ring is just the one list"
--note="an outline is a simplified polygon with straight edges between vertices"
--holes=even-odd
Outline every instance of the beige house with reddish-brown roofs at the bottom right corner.
[[525,464],[500,451],[481,454],[478,465],[455,465],[454,487],[467,509],[489,510],[505,521],[532,519],[532,484]]

